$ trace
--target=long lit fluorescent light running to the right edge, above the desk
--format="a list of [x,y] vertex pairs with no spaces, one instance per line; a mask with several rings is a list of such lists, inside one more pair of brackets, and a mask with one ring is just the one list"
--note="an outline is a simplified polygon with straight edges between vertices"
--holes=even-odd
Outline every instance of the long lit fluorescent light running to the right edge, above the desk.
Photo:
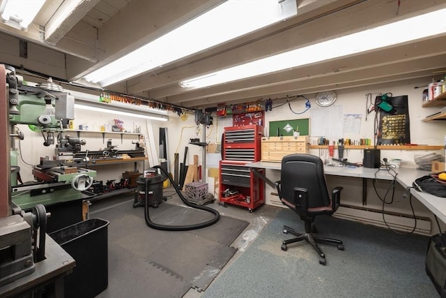
[[201,88],[274,73],[319,61],[376,50],[446,33],[446,9],[411,17],[374,29],[334,38],[315,45],[233,66],[179,82],[180,87]]

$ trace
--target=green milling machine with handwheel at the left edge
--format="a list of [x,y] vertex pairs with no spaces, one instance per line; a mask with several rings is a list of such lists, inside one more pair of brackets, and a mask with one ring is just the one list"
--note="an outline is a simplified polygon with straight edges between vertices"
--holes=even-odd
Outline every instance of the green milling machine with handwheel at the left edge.
[[81,199],[82,191],[91,186],[96,172],[75,166],[73,154],[85,142],[63,135],[64,126],[74,119],[75,98],[51,80],[36,87],[25,86],[22,78],[15,75],[13,70],[6,80],[9,84],[9,124],[12,135],[22,140],[23,133],[15,125],[27,124],[32,131],[42,134],[45,147],[57,142],[56,154],[41,157],[40,163],[33,166],[32,173],[36,181],[19,184],[19,152],[15,146],[16,139],[11,140],[13,202],[22,209],[30,209],[36,204],[47,206]]

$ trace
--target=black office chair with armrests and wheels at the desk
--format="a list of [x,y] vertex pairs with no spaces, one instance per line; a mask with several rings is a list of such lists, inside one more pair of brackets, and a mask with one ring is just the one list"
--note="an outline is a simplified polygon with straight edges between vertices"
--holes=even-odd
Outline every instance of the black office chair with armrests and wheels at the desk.
[[332,196],[328,195],[328,188],[323,172],[323,162],[318,156],[311,154],[291,154],[282,158],[280,181],[276,187],[282,204],[285,204],[300,216],[305,222],[305,232],[300,233],[284,225],[284,233],[291,233],[297,238],[282,242],[282,251],[287,245],[307,240],[319,254],[319,263],[325,265],[325,254],[316,243],[334,244],[340,251],[344,251],[342,241],[325,237],[317,237],[313,233],[316,227],[313,222],[318,215],[332,215],[339,207],[342,187],[336,187]]

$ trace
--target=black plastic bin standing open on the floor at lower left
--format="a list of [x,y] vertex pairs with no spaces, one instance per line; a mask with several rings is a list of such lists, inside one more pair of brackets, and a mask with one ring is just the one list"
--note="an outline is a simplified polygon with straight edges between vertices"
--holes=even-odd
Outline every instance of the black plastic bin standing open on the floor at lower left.
[[109,284],[109,221],[91,218],[49,234],[76,261],[65,276],[65,297],[95,297]]

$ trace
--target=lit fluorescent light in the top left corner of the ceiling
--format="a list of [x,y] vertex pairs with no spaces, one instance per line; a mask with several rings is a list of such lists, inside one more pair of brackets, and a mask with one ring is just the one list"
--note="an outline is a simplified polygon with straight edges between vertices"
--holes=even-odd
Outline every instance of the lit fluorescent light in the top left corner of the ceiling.
[[45,0],[1,0],[1,22],[15,29],[26,30]]

